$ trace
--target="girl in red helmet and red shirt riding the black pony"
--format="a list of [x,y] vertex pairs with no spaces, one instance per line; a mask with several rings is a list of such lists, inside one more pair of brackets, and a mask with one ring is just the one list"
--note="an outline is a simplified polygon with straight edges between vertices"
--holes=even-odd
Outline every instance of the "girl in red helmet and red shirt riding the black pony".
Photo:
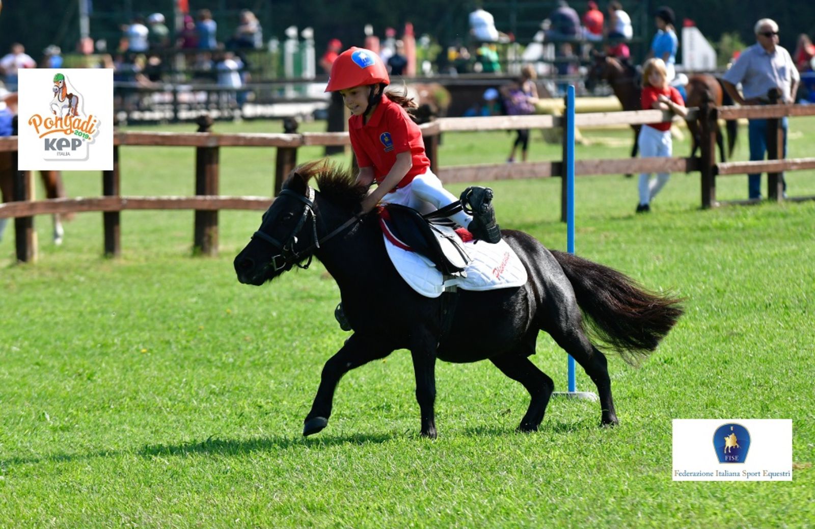
[[[351,47],[334,60],[325,88],[338,91],[351,112],[348,130],[359,164],[357,183],[368,186],[376,180],[378,184],[363,200],[362,213],[380,201],[420,211],[425,203],[439,209],[455,202],[456,197],[430,170],[421,130],[405,111],[416,105],[402,95],[385,95],[388,84],[390,77],[379,55]],[[450,218],[476,239],[496,243],[500,230],[489,198],[484,206],[476,209],[475,217],[460,211]]]

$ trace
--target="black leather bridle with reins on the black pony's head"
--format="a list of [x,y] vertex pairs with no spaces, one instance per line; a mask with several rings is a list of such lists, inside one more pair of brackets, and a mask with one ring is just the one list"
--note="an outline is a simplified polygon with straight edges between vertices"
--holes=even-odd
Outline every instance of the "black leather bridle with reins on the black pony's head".
[[[263,222],[261,223],[260,228],[258,231],[255,231],[252,234],[252,238],[258,238],[261,240],[265,240],[270,245],[274,246],[276,249],[280,250],[280,253],[276,253],[275,255],[271,256],[270,261],[267,263],[267,268],[272,267],[274,271],[289,271],[293,266],[297,266],[298,268],[306,269],[311,265],[311,258],[313,257],[314,253],[313,250],[318,249],[320,244],[326,242],[327,240],[331,239],[333,236],[336,236],[341,231],[346,230],[346,228],[352,226],[355,223],[359,222],[359,215],[355,215],[354,217],[350,218],[343,223],[340,227],[337,227],[334,231],[329,233],[327,236],[324,236],[322,239],[318,239],[317,237],[317,215],[314,211],[314,199],[315,199],[315,191],[311,187],[306,187],[306,196],[302,196],[300,193],[293,192],[289,189],[284,189],[278,195],[280,196],[293,196],[298,201],[303,203],[303,211],[300,215],[300,218],[297,220],[297,225],[295,225],[294,229],[289,233],[289,236],[286,237],[284,242],[280,242],[280,240],[275,239],[274,237],[264,233],[263,226],[266,224],[266,216],[264,215]],[[267,212],[268,214],[268,212]],[[299,252],[294,249],[294,245],[297,245],[297,236],[300,235],[300,231],[308,222],[308,218],[311,217],[311,240],[313,241],[311,245],[309,245],[306,249],[303,249]],[[306,264],[300,264],[304,258],[308,257],[308,261]]]

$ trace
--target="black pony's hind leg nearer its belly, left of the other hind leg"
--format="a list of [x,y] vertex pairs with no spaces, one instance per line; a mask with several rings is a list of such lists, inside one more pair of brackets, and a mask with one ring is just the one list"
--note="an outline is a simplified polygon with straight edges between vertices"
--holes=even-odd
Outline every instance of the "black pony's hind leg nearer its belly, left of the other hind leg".
[[[531,334],[531,339],[525,341],[527,347],[532,347],[533,353],[535,352],[537,334],[537,331],[535,331],[535,333]],[[518,431],[521,432],[538,430],[540,422],[544,420],[549,398],[555,389],[552,379],[537,368],[535,364],[532,364],[527,356],[528,354],[528,348],[522,348],[490,359],[496,365],[496,368],[501,370],[501,373],[504,373],[513,381],[521,382],[526,391],[529,392],[531,397],[529,408],[526,409],[526,414],[521,419],[521,424],[518,425]]]

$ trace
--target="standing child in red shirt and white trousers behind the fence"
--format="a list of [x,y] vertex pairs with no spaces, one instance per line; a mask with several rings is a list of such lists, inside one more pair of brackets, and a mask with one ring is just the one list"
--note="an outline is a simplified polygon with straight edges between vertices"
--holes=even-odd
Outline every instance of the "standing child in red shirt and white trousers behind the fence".
[[[670,110],[681,117],[685,117],[688,111],[679,91],[667,84],[667,69],[662,59],[654,58],[645,61],[642,71],[642,109],[650,110]],[[643,158],[651,156],[670,157],[673,151],[671,139],[671,122],[649,123],[640,129],[639,138],[640,156]],[[657,173],[656,179],[650,179],[649,173],[640,174],[639,192],[640,203],[637,205],[637,213],[650,211],[650,201],[654,200],[662,188],[671,177],[669,173]]]

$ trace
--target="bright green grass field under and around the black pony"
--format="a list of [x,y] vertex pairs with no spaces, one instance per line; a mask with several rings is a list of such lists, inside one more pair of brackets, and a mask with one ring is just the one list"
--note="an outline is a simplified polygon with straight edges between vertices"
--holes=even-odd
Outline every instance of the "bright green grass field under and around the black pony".
[[[627,156],[628,130],[584,135],[579,157]],[[511,138],[447,134],[441,164],[502,161]],[[790,156],[811,156],[813,138],[815,120],[792,120]],[[532,159],[559,152],[533,134]],[[122,193],[192,195],[193,156],[122,148]],[[268,194],[273,161],[273,149],[222,149],[222,193]],[[815,195],[813,172],[787,180]],[[558,179],[490,185],[503,227],[565,249]],[[101,178],[70,173],[66,186],[98,196]],[[597,403],[553,399],[538,433],[516,434],[522,386],[489,363],[437,364],[435,441],[418,436],[406,351],[349,373],[328,428],[302,438],[346,337],[339,293],[319,263],[239,284],[232,258],[258,212],[220,214],[218,258],[191,257],[192,212],[124,212],[115,261],[101,257],[101,214],[77,214],[61,247],[38,217],[39,261],[26,266],[13,264],[10,225],[0,527],[815,526],[815,202],[701,210],[698,174],[674,174],[647,215],[633,214],[636,179],[581,178],[576,193],[577,253],[674,290],[685,316],[641,368],[610,359],[619,427],[598,426]],[[746,176],[719,179],[720,199],[746,196]],[[566,355],[548,336],[533,361],[565,390]],[[578,386],[593,390],[582,372]],[[672,482],[674,418],[791,418],[793,481]]]

